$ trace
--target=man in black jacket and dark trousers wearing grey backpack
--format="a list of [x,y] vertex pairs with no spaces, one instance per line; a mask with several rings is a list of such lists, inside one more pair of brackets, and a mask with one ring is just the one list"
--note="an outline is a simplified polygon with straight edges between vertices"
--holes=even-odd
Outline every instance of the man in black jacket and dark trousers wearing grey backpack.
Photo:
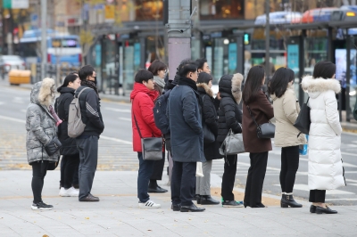
[[[81,122],[85,124],[84,131],[76,137],[80,160],[79,201],[99,201],[91,193],[98,162],[98,140],[104,131],[95,69],[90,65],[83,66],[79,69],[79,78],[81,86],[76,90],[75,96],[79,100]],[[70,122],[69,135],[72,132]]]

